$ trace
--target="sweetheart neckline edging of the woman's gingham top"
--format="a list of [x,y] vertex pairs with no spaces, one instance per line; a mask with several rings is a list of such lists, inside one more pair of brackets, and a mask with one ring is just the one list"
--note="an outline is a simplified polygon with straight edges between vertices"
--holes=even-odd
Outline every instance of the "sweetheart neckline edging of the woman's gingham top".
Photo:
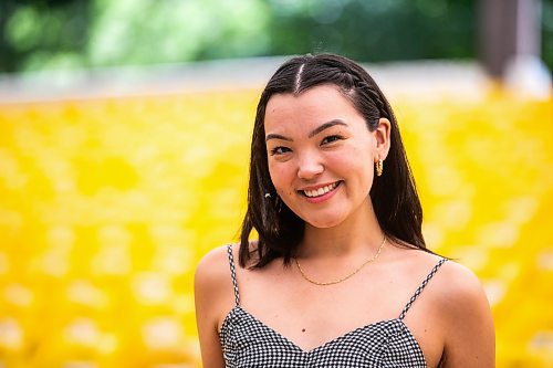
[[400,325],[403,325],[403,327],[405,328],[405,330],[407,332],[407,335],[410,339],[413,339],[413,341],[415,343],[420,356],[422,357],[422,359],[425,360],[425,366],[427,366],[427,362],[426,362],[426,358],[425,358],[425,354],[422,353],[422,349],[420,348],[420,345],[417,340],[417,338],[415,337],[415,335],[413,335],[411,330],[409,329],[409,326],[407,326],[405,324],[405,322],[399,318],[399,317],[396,317],[396,318],[389,318],[389,319],[382,319],[382,320],[378,320],[378,322],[373,322],[371,324],[367,324],[367,325],[364,325],[364,326],[361,326],[361,327],[356,327],[349,332],[346,332],[337,337],[334,337],[332,338],[331,340],[328,341],[325,341],[312,349],[309,349],[309,350],[305,350],[303,349],[302,347],[300,347],[296,343],[292,341],[290,338],[288,338],[286,336],[282,335],[281,333],[279,333],[278,330],[275,330],[274,328],[272,328],[271,326],[267,325],[264,322],[262,322],[261,319],[259,319],[258,317],[255,317],[254,315],[252,315],[250,312],[246,311],[244,308],[242,308],[240,305],[234,305],[232,307],[232,309],[229,311],[229,313],[227,313],[227,315],[225,316],[225,319],[222,320],[222,324],[221,324],[221,328],[219,329],[219,336],[222,336],[222,330],[225,329],[225,326],[228,325],[230,322],[230,316],[236,313],[234,311],[241,311],[243,314],[246,314],[247,316],[249,316],[250,318],[252,318],[258,325],[262,326],[263,328],[265,328],[267,330],[269,330],[271,334],[275,335],[276,337],[279,337],[280,339],[286,341],[286,344],[289,344],[290,346],[292,346],[294,349],[301,351],[302,354],[313,354],[314,351],[317,351],[317,350],[321,350],[323,349],[324,347],[328,346],[328,345],[332,345],[336,341],[340,341],[340,340],[343,340],[358,332],[362,332],[362,330],[365,330],[365,329],[368,329],[371,327],[374,327],[374,326],[377,326],[377,325],[382,325],[382,324],[385,324],[385,323],[399,323]]

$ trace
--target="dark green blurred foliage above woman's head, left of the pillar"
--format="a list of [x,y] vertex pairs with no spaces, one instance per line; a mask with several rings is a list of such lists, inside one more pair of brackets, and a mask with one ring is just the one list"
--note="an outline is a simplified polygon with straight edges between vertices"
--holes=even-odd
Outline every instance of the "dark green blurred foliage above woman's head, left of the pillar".
[[[332,51],[362,61],[474,57],[474,1],[270,1],[272,51]],[[453,42],[455,40],[455,42]]]

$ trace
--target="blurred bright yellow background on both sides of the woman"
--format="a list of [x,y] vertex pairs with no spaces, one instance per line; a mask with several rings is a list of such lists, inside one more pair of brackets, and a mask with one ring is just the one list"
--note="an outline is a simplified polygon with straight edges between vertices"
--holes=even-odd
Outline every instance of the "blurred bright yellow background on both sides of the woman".
[[[192,277],[236,240],[259,88],[0,105],[0,367],[200,367]],[[472,269],[498,367],[553,367],[553,101],[392,101],[429,248]]]

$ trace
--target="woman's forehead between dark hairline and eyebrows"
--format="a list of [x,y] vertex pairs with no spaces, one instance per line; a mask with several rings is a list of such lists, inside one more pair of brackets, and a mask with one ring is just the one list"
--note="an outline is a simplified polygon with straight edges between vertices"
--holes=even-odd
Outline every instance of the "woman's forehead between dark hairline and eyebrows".
[[279,127],[321,125],[332,119],[364,120],[352,102],[334,85],[320,85],[302,92],[275,94],[265,108],[265,130]]

